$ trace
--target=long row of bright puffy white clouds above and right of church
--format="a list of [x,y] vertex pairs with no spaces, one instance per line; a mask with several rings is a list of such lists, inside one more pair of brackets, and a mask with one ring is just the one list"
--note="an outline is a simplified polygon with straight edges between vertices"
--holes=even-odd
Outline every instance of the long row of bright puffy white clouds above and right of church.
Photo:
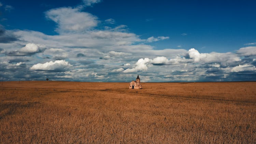
[[[240,61],[240,58],[232,53],[199,53],[195,48],[189,49],[186,56],[176,56],[175,58],[168,59],[167,57],[156,57],[141,58],[135,63],[135,67],[131,69],[126,69],[124,73],[132,73],[137,71],[147,71],[148,66],[163,66],[163,65],[181,65],[188,63],[196,64],[201,63],[202,66],[207,67],[228,67],[236,66],[236,63]],[[213,72],[213,70],[208,70],[208,72]]]

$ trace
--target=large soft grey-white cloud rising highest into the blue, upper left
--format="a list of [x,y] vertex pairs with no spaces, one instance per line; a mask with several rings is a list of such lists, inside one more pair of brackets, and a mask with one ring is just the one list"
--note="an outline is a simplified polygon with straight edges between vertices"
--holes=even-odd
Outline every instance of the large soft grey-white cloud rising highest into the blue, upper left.
[[58,32],[84,32],[97,26],[98,18],[78,8],[57,8],[45,12],[47,18],[58,24]]

